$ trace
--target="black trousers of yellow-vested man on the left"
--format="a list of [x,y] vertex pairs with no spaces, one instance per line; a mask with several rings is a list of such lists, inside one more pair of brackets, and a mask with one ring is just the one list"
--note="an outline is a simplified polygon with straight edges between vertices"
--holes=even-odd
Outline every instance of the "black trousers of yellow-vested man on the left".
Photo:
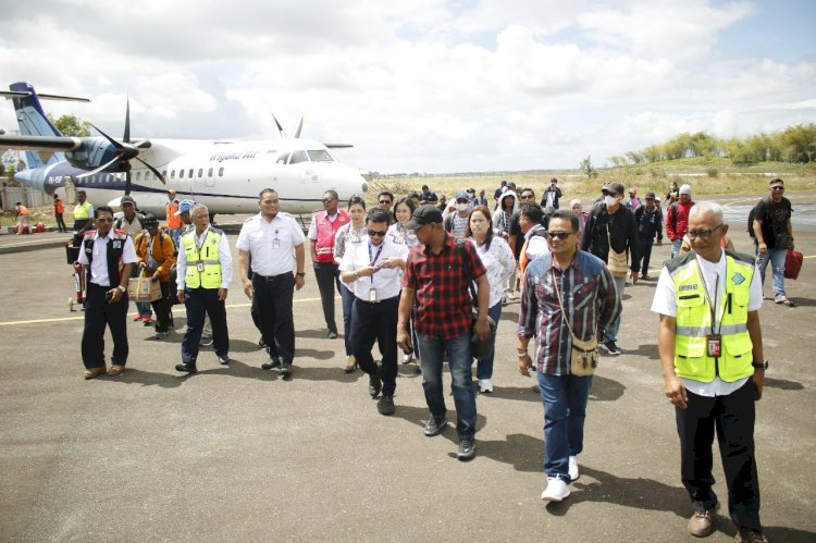
[[219,299],[219,289],[186,287],[184,305],[187,308],[187,331],[182,340],[182,361],[196,363],[205,313],[210,316],[215,355],[226,356],[230,353],[230,332],[226,329],[226,306]]

